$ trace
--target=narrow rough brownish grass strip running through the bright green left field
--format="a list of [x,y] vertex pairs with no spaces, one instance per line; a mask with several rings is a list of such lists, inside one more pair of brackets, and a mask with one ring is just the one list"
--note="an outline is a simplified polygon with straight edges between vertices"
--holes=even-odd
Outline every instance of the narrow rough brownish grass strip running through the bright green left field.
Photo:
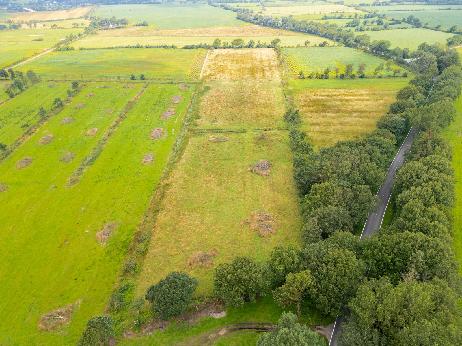
[[112,135],[117,130],[119,125],[122,123],[127,113],[134,107],[134,105],[144,94],[146,89],[147,86],[143,87],[143,89],[141,89],[140,92],[136,94],[136,96],[125,105],[120,115],[112,122],[108,130],[104,132],[103,136],[98,141],[97,145],[93,149],[91,149],[90,154],[85,156],[85,158],[80,162],[79,167],[77,167],[75,171],[69,176],[64,186],[74,186],[79,184],[79,181],[82,179],[85,172],[88,170],[88,168],[90,168],[91,164],[95,162],[99,154],[101,154],[109,138],[112,137]]

